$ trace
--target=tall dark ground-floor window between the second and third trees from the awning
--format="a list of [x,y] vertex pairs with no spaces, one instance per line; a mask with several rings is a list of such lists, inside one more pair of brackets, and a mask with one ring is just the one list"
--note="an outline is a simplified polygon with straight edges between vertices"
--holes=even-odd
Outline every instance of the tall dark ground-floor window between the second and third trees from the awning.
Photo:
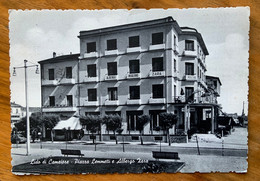
[[127,130],[136,131],[140,127],[138,116],[141,116],[143,111],[127,111]]

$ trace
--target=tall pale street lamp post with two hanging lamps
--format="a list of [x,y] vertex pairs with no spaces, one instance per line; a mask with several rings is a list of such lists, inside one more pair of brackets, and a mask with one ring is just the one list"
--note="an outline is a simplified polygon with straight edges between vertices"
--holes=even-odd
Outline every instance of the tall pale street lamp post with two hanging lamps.
[[23,68],[24,76],[25,76],[25,104],[26,104],[26,127],[27,127],[27,142],[26,142],[26,155],[28,156],[30,153],[30,121],[29,121],[29,107],[28,107],[28,80],[27,80],[27,68],[28,67],[36,67],[36,74],[39,74],[38,65],[27,65],[28,60],[24,60],[24,66],[14,67],[13,68],[13,76],[16,76],[16,69]]

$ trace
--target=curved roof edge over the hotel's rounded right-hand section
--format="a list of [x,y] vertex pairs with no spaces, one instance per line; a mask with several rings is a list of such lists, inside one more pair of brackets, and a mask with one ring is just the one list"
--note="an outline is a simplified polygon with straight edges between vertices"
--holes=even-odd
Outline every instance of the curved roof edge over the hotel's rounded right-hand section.
[[204,52],[205,55],[209,55],[208,49],[205,45],[205,42],[201,36],[201,34],[195,29],[195,28],[190,28],[190,27],[181,27],[181,35],[193,35],[196,36],[200,46]]

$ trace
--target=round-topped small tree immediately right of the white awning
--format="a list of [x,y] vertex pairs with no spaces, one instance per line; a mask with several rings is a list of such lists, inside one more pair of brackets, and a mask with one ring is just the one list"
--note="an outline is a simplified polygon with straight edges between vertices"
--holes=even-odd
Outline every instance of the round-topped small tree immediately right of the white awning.
[[95,143],[94,133],[101,131],[102,119],[97,115],[87,115],[80,118],[80,122],[86,130],[92,133],[93,144]]

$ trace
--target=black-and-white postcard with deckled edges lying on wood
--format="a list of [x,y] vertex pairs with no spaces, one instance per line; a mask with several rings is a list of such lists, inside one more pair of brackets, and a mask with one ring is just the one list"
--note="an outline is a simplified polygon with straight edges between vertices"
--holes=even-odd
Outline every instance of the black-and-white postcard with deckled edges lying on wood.
[[10,10],[12,173],[246,173],[249,17]]

